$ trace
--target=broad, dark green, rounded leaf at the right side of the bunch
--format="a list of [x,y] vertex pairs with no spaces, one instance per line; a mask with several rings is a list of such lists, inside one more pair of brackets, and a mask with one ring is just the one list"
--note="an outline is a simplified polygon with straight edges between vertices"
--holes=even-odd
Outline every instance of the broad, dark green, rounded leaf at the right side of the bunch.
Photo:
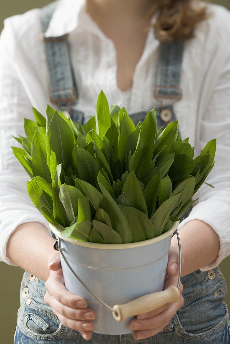
[[172,182],[185,178],[194,169],[194,160],[190,155],[175,155],[174,162],[170,168],[169,176]]

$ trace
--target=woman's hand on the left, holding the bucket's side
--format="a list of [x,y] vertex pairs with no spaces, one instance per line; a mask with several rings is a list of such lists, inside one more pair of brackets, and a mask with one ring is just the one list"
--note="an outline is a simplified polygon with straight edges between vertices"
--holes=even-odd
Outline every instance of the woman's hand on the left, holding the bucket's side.
[[50,255],[48,267],[51,271],[46,281],[45,303],[52,307],[53,313],[64,326],[80,331],[82,337],[89,340],[92,336],[95,312],[87,308],[85,299],[65,288],[59,252]]

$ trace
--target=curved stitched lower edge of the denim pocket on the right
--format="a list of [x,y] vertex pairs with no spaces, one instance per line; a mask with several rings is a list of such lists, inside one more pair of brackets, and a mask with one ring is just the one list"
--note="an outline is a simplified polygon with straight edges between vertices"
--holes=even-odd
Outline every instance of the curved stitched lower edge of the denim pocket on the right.
[[[223,319],[214,327],[212,327],[212,329],[203,332],[203,333],[198,333],[198,334],[193,334],[193,333],[189,333],[187,331],[185,331],[183,329],[183,326],[180,323],[180,320],[178,318],[178,315],[176,314],[174,317],[174,325],[178,331],[178,333],[186,338],[186,339],[196,339],[196,340],[202,340],[204,338],[210,337],[212,334],[216,333],[217,331],[219,331],[221,329],[221,327],[223,327],[223,325],[226,323],[226,321],[228,320],[229,314],[228,312],[226,312],[226,314],[224,315]],[[175,321],[176,320],[176,321]]]

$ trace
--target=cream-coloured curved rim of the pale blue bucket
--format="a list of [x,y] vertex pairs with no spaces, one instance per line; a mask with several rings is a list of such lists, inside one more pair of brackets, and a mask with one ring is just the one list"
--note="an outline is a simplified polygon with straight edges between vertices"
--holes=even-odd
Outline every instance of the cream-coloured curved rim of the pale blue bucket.
[[50,229],[52,232],[56,235],[56,237],[59,237],[60,239],[64,241],[68,241],[68,243],[78,245],[78,246],[84,246],[84,247],[89,247],[89,248],[97,248],[97,249],[127,249],[127,248],[135,248],[135,247],[141,247],[141,246],[147,246],[151,245],[154,243],[157,243],[158,241],[164,240],[170,235],[172,235],[178,228],[179,221],[176,221],[172,227],[167,230],[167,232],[152,238],[148,240],[143,240],[143,241],[137,241],[136,243],[125,243],[125,244],[98,244],[98,243],[89,243],[87,242],[81,242],[72,238],[64,238],[61,235],[61,232],[59,232],[58,229],[56,229],[52,224],[49,223]]

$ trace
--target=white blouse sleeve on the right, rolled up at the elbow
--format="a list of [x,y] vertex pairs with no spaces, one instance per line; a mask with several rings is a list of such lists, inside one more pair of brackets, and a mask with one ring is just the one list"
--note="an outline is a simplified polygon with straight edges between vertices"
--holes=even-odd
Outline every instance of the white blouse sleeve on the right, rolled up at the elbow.
[[[228,14],[228,19],[230,15]],[[226,27],[225,27],[226,26]],[[198,204],[193,207],[190,215],[181,222],[179,229],[189,221],[198,219],[208,223],[218,234],[220,251],[216,261],[201,268],[202,271],[215,268],[230,255],[230,23],[224,25],[226,39],[220,36],[220,46],[216,56],[210,63],[203,91],[210,89],[203,101],[206,105],[201,111],[199,136],[196,142],[197,153],[205,144],[217,138],[217,149],[214,168],[206,182],[215,189],[203,184],[194,198],[199,197]],[[222,28],[221,30],[224,30]],[[227,31],[227,32],[226,32]],[[228,33],[228,34],[227,34]],[[212,80],[213,83],[210,81]],[[206,89],[206,90],[205,90]],[[204,248],[205,249],[205,248]],[[208,254],[208,247],[207,247]]]

